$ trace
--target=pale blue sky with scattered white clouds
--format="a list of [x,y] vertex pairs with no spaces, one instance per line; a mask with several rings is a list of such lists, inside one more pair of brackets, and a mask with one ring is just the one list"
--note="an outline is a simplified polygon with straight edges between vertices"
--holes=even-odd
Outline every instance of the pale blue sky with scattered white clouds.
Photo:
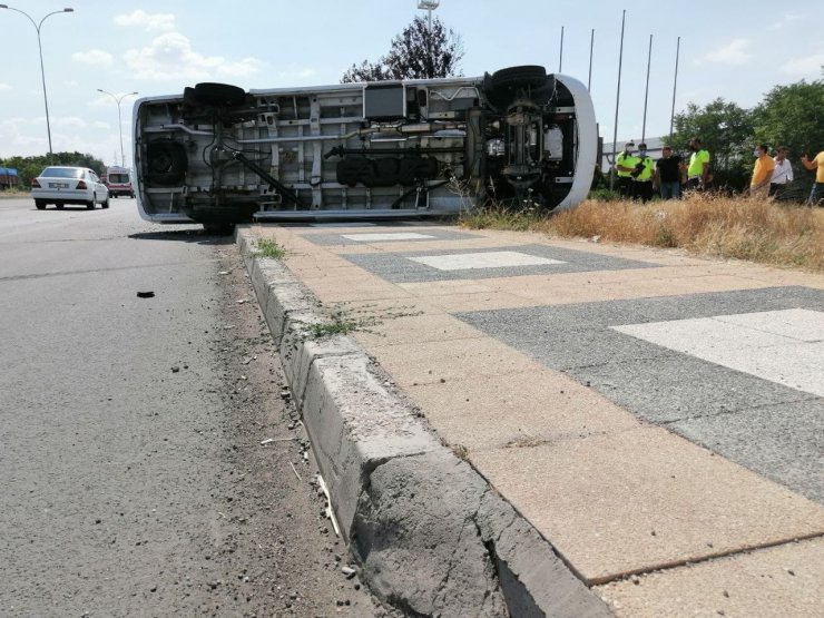
[[[55,151],[120,163],[115,97],[182,92],[200,81],[244,89],[337,84],[352,63],[377,61],[415,16],[418,0],[12,0],[41,26]],[[676,112],[717,97],[749,108],[776,85],[822,79],[824,36],[816,2],[727,0],[441,0],[433,12],[462,40],[464,76],[543,65],[589,80],[600,135],[612,141],[621,14],[626,9],[618,139],[669,133],[680,37]],[[561,28],[563,56],[560,58]],[[645,82],[653,52],[646,128]],[[0,9],[0,158],[48,153],[35,26]],[[107,90],[112,96],[101,94]],[[121,99],[126,164],[138,97]],[[822,145],[824,147],[824,145]]]

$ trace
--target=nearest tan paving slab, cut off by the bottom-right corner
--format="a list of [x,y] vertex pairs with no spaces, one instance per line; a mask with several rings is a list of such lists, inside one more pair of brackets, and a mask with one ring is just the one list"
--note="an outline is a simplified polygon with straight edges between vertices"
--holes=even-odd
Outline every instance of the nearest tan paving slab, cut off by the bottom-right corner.
[[596,588],[616,616],[817,618],[824,540],[808,539]]

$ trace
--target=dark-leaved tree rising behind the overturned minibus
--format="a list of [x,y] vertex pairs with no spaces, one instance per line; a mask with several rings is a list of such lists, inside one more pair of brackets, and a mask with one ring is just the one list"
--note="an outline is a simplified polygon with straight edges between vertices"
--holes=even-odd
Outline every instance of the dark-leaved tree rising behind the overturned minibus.
[[434,18],[430,31],[426,20],[415,17],[403,32],[392,39],[389,53],[376,63],[364,60],[343,75],[342,84],[382,79],[424,79],[460,76],[463,58],[459,35]]

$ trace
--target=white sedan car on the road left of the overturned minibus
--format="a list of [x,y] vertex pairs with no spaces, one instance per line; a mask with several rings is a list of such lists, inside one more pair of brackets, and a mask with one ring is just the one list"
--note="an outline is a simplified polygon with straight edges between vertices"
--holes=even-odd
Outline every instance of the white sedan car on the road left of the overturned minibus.
[[87,167],[50,166],[31,180],[31,197],[38,210],[53,204],[60,210],[66,204],[82,204],[89,210],[99,204],[109,207],[109,189]]

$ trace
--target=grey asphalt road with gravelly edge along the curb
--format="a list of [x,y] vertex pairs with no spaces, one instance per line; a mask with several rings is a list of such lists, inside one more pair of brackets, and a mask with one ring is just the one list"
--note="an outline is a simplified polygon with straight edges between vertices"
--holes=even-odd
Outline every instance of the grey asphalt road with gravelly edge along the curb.
[[0,199],[0,615],[380,615],[232,238],[110,203]]

